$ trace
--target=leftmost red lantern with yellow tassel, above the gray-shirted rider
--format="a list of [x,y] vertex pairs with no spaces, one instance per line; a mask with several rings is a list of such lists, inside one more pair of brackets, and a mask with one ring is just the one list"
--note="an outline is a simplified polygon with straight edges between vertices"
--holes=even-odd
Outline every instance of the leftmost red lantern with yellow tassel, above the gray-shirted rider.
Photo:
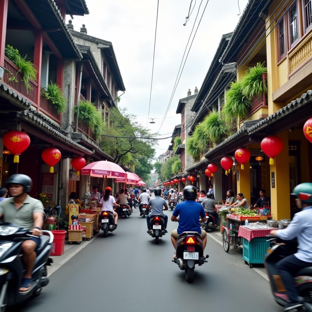
[[19,162],[19,155],[28,148],[29,136],[22,131],[9,131],[3,136],[3,144],[14,155],[14,163]]

